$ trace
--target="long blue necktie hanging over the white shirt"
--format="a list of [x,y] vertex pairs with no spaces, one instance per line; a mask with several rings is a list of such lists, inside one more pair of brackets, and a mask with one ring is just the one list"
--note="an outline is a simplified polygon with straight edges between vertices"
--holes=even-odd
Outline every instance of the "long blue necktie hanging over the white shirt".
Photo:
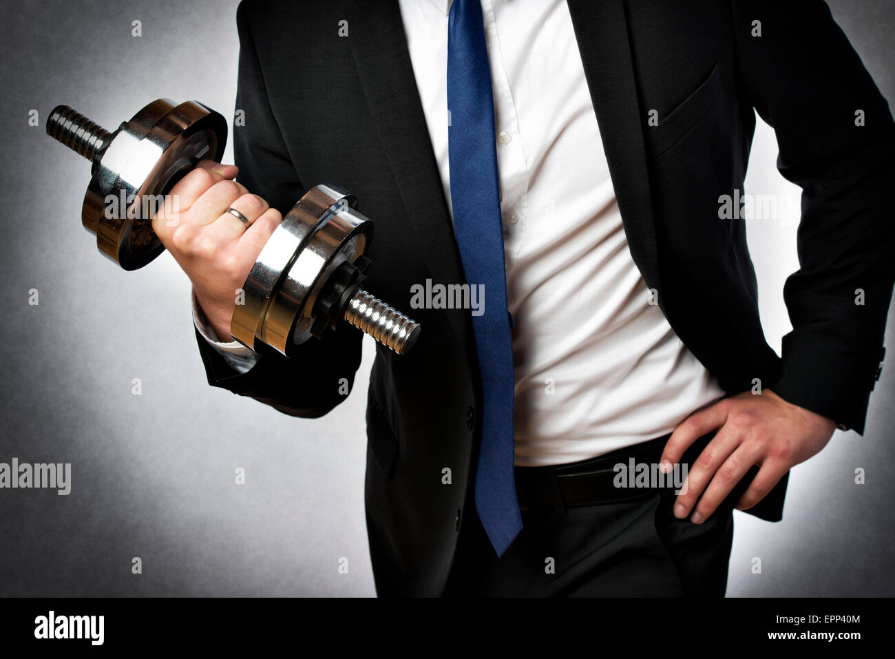
[[482,372],[475,509],[498,555],[522,529],[513,475],[513,340],[500,219],[494,99],[480,0],[454,0],[447,23],[450,197],[466,282],[483,285],[473,316]]

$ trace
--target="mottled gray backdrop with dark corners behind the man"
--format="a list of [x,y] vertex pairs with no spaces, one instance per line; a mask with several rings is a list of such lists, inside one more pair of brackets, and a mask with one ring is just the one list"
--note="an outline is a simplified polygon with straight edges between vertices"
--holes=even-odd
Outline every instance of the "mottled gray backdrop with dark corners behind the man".
[[[830,4],[895,98],[891,3]],[[58,103],[109,128],[158,97],[195,98],[229,115],[235,8],[234,0],[4,2],[0,462],[71,462],[73,484],[69,496],[0,490],[0,595],[375,594],[363,396],[304,420],[209,388],[188,280],[168,255],[134,273],[98,256],[80,222],[87,162],[44,134]],[[134,20],[141,38],[131,35]],[[28,124],[31,109],[38,127]],[[797,208],[776,154],[760,125],[746,193],[789,195]],[[778,350],[796,223],[797,213],[749,226]],[[28,304],[31,288],[38,306]],[[893,332],[890,320],[890,346]],[[361,394],[371,357],[368,344]],[[141,396],[132,395],[134,378]],[[794,470],[783,522],[736,513],[729,595],[895,595],[893,403],[884,371],[865,436],[837,432]],[[854,484],[858,466],[865,485]],[[245,485],[234,484],[237,467]],[[140,576],[131,573],[135,556]],[[347,575],[338,573],[342,557]],[[750,571],[754,557],[761,575]]]

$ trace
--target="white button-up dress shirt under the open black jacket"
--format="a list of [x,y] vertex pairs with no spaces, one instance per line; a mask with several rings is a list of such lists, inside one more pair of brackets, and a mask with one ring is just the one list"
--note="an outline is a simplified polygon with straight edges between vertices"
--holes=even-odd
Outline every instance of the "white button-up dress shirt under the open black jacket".
[[[631,257],[566,0],[481,1],[516,323],[516,465],[575,462],[660,437],[724,392]],[[399,4],[450,208],[451,0]],[[235,368],[251,367],[251,351],[217,346]]]

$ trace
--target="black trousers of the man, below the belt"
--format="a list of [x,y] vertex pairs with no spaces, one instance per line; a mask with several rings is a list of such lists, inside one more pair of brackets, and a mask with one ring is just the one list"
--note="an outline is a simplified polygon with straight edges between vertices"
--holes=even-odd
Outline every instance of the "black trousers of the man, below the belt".
[[[682,463],[692,464],[711,437],[697,441]],[[664,445],[666,440],[653,442]],[[575,466],[612,466],[626,458],[621,449]],[[701,525],[674,517],[676,494],[669,489],[564,512],[526,510],[522,531],[500,558],[471,497],[444,595],[722,597],[733,509],[746,484]]]

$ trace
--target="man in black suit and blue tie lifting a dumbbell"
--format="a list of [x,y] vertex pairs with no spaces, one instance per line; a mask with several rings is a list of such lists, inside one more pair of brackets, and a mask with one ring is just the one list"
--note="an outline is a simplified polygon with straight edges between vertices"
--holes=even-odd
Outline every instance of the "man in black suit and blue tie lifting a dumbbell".
[[[371,372],[379,595],[723,595],[732,509],[780,519],[789,468],[863,432],[882,361],[895,133],[826,5],[243,2],[237,24],[240,183],[203,163],[154,227],[209,383],[316,417],[361,335],[253,355],[235,291],[311,185],[375,221],[371,289],[423,327]],[[754,110],[804,191],[780,357],[720,211]],[[481,315],[410,308],[460,283]],[[619,488],[629,460],[688,465],[686,487]]]

